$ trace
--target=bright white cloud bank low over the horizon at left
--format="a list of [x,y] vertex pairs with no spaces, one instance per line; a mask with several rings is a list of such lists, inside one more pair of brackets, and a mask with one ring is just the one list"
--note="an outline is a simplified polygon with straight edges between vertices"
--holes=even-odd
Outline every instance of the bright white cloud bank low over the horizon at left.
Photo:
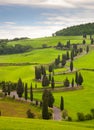
[[61,29],[61,26],[0,26],[0,38],[45,37],[51,36],[58,29]]

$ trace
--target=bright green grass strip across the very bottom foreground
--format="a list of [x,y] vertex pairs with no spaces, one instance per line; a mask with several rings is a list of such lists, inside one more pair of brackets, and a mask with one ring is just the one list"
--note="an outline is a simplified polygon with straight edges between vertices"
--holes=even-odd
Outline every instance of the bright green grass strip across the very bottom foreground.
[[[5,125],[6,124],[6,125]],[[84,123],[56,122],[21,118],[0,118],[0,130],[93,130],[94,121]]]

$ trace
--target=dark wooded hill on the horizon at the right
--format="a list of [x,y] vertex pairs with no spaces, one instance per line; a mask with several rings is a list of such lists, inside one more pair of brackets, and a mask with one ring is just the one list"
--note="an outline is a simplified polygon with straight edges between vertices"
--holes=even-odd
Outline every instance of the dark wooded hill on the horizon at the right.
[[71,26],[60,31],[57,31],[56,36],[78,36],[78,35],[92,35],[94,34],[94,23],[81,24]]

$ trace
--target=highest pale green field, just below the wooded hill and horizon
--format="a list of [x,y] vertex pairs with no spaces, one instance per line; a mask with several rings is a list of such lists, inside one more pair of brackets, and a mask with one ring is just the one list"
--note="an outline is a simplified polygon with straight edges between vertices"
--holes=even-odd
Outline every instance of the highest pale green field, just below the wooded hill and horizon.
[[[71,43],[82,43],[83,37],[82,36],[57,36],[57,37],[45,37],[45,38],[38,38],[38,39],[26,39],[26,40],[19,40],[9,42],[10,45],[15,44],[22,44],[22,45],[31,45],[33,48],[42,47],[43,44],[47,44],[48,46],[55,46],[60,41],[65,44],[68,40]],[[89,36],[86,39],[87,43],[90,43]]]

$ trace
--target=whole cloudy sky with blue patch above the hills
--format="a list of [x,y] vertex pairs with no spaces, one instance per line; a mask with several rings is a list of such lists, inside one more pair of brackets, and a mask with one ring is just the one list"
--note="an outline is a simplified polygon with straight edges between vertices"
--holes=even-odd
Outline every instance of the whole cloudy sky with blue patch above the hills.
[[94,0],[0,0],[0,39],[50,36],[88,22],[94,22]]

